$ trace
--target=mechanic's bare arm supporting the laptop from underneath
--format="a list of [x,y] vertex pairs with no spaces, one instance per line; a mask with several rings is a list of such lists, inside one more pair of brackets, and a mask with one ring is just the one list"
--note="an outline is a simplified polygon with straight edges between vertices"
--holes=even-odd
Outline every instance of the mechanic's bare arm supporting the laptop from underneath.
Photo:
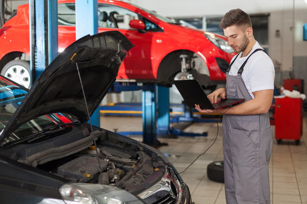
[[[221,108],[216,110],[201,109],[198,104],[195,104],[195,108],[200,113],[220,113],[223,114],[227,109],[229,109],[225,114],[233,115],[256,115],[267,113],[272,105],[273,100],[273,89],[266,89],[261,91],[253,92],[255,98],[249,100],[245,103],[231,107],[231,109]],[[214,93],[214,92],[213,92]],[[212,94],[213,94],[212,93]]]

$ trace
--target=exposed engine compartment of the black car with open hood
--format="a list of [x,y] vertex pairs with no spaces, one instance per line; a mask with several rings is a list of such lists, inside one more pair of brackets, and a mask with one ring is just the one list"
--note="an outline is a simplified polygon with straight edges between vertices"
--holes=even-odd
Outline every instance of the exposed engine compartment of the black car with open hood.
[[97,149],[91,145],[69,156],[39,164],[37,168],[72,182],[112,185],[133,194],[164,176],[164,162],[157,155],[146,154],[137,143],[127,143],[106,131],[95,135],[102,135],[96,140]]

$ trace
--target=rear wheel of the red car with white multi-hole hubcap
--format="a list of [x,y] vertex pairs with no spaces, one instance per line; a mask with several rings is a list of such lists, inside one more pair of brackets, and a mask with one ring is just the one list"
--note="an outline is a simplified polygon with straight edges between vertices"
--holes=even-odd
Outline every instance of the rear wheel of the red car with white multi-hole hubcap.
[[9,61],[1,70],[1,75],[20,85],[31,87],[31,69],[29,61],[12,60]]

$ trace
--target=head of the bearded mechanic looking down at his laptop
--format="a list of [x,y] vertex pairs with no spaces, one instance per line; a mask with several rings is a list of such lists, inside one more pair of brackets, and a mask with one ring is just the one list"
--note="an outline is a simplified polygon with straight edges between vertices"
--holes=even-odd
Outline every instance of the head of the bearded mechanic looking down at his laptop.
[[[228,11],[220,22],[228,44],[236,51],[243,52],[244,57],[255,44],[251,18],[241,9]],[[247,50],[247,51],[246,51]]]

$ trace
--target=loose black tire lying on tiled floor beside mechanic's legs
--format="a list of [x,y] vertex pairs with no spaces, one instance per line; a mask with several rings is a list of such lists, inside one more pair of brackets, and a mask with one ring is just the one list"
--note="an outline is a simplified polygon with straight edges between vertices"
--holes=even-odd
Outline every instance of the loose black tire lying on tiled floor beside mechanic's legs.
[[207,176],[212,181],[224,183],[224,161],[214,161],[208,164]]

